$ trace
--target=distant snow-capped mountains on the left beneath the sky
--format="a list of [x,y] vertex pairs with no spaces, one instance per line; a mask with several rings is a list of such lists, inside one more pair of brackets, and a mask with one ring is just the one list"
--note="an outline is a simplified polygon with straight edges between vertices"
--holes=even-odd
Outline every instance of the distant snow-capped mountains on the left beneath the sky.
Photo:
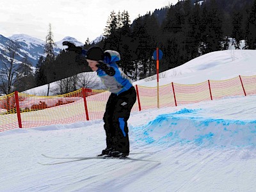
[[[19,60],[20,62],[22,62],[24,57],[27,55],[29,62],[33,65],[33,67],[35,67],[40,56],[45,56],[45,42],[43,40],[25,34],[12,35],[8,38],[0,35],[0,54],[3,54],[4,47],[10,44],[11,40],[19,44],[20,49],[18,51],[19,56],[17,57],[17,60]],[[59,54],[61,49],[67,48],[62,45],[62,42],[64,41],[73,42],[77,46],[83,45],[83,43],[77,41],[76,38],[66,36],[65,38],[63,38],[63,40],[55,42],[57,47],[54,48],[54,53],[56,55]]]

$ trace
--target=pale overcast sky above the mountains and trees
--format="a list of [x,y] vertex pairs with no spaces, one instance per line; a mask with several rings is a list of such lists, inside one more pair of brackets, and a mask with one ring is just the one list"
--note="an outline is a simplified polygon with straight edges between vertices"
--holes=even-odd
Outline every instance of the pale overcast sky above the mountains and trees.
[[52,25],[54,41],[72,36],[80,42],[104,33],[114,10],[126,10],[130,20],[178,0],[1,0],[0,35],[26,34],[41,40]]

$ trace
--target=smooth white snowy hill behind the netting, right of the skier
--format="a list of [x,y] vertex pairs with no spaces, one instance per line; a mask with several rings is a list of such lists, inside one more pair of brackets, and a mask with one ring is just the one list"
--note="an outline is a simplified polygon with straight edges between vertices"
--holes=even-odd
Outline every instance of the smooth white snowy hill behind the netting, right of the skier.
[[[204,54],[194,60],[184,63],[179,67],[172,68],[159,74],[159,84],[179,83],[196,84],[210,80],[232,79],[239,75],[255,76],[256,61],[255,50],[226,50]],[[161,60],[159,62],[161,68]],[[150,86],[150,78],[142,79],[137,83]],[[156,86],[156,82],[153,83]]]

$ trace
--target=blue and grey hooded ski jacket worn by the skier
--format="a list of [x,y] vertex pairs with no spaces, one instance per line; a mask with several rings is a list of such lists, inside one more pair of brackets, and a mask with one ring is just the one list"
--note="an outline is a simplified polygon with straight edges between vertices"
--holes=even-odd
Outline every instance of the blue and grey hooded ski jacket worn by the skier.
[[132,82],[124,72],[116,65],[120,61],[120,54],[117,51],[107,50],[104,52],[104,61],[99,61],[97,74],[109,92],[119,95],[132,87]]

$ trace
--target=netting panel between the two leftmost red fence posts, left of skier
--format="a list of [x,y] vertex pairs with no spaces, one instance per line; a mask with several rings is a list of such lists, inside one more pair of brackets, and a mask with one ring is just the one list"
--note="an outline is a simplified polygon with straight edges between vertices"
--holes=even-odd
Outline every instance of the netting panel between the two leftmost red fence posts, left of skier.
[[86,120],[82,89],[49,97],[19,93],[19,98],[20,118],[24,128]]

